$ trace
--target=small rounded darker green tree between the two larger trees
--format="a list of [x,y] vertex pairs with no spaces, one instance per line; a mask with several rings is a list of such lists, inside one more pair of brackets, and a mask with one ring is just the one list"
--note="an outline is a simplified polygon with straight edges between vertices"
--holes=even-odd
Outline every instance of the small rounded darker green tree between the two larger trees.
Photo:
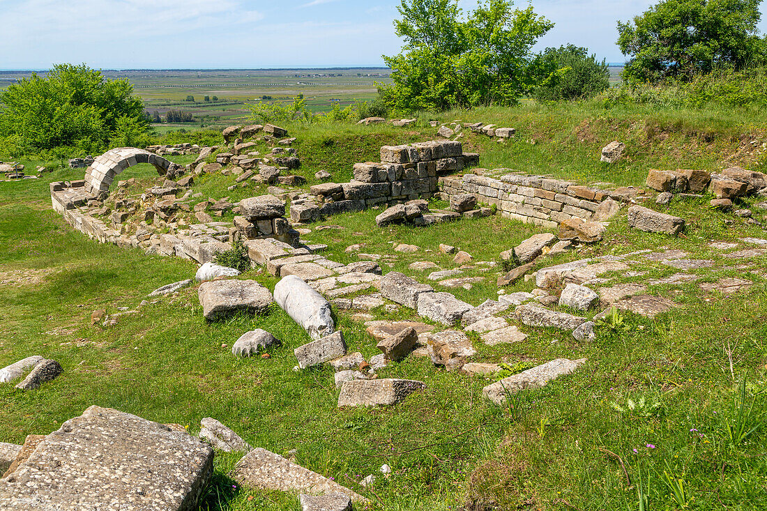
[[538,101],[574,100],[594,96],[610,87],[610,70],[587,48],[575,45],[546,48],[542,56],[548,77],[535,89]]

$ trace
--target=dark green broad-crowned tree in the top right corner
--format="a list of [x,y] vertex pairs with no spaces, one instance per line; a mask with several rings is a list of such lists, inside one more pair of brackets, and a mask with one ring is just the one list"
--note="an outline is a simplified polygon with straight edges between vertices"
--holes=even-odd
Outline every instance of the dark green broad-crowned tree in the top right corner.
[[762,0],[662,0],[634,21],[618,21],[618,46],[630,60],[627,81],[690,80],[716,66],[762,61],[757,35]]

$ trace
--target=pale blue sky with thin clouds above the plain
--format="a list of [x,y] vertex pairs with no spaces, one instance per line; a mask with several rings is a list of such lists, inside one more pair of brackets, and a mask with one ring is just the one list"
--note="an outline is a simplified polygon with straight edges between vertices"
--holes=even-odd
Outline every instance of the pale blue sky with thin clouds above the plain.
[[[463,8],[476,0],[460,0]],[[535,0],[555,22],[537,49],[574,43],[620,62],[616,21],[650,0]],[[397,1],[0,0],[0,68],[275,68],[381,65],[400,41]],[[517,2],[524,7],[524,2]],[[762,32],[767,23],[760,24]]]

